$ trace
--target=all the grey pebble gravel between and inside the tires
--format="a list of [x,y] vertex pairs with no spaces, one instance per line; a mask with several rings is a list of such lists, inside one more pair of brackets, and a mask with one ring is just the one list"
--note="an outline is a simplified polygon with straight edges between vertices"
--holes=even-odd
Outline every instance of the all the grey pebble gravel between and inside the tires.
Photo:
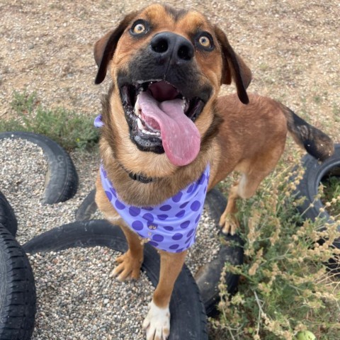
[[[0,140],[0,190],[16,213],[16,238],[21,244],[74,222],[75,211],[94,186],[99,162],[94,152],[71,156],[79,174],[79,191],[66,202],[42,205],[47,171],[42,149],[26,140]],[[98,211],[94,214],[94,218],[102,217]],[[204,211],[186,264],[196,273],[219,249],[215,222]],[[109,278],[117,255],[103,247],[30,255],[38,295],[33,340],[144,339],[140,325],[154,288],[145,273],[135,283]]]

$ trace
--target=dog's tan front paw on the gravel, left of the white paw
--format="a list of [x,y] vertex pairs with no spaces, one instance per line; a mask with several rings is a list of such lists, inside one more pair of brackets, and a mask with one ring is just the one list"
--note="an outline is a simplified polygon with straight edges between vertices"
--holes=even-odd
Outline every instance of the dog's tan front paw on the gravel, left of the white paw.
[[143,259],[137,259],[131,255],[130,251],[125,254],[118,256],[115,261],[119,264],[111,272],[112,276],[118,276],[118,280],[137,280],[140,277],[140,266],[142,265]]

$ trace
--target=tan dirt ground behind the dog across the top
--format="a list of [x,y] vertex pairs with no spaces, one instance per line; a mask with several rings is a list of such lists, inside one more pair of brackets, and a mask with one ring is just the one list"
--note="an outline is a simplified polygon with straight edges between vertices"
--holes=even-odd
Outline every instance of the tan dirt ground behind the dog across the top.
[[[340,3],[167,1],[217,23],[253,72],[249,91],[280,99],[340,142]],[[108,79],[94,85],[93,45],[149,1],[0,0],[0,118],[13,91],[37,92],[43,106],[96,115]],[[234,86],[222,91],[234,91]]]

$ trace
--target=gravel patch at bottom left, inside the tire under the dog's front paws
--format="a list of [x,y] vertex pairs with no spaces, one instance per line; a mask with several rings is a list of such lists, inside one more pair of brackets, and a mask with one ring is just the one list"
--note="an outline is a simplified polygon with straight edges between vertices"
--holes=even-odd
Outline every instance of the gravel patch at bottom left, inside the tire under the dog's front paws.
[[110,278],[118,251],[100,246],[30,255],[38,311],[32,340],[145,339],[142,322],[154,290]]

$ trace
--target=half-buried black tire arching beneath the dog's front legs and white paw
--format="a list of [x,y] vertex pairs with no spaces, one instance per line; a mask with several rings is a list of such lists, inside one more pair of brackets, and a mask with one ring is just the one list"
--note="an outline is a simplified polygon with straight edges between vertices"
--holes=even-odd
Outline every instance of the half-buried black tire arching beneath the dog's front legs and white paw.
[[[106,220],[90,220],[62,225],[34,237],[23,245],[30,254],[60,251],[75,246],[108,246],[121,252],[128,249],[120,227]],[[159,280],[159,254],[153,246],[145,244],[142,270],[152,285]],[[170,302],[171,333],[169,340],[208,340],[207,318],[195,280],[186,266],[176,280]]]

